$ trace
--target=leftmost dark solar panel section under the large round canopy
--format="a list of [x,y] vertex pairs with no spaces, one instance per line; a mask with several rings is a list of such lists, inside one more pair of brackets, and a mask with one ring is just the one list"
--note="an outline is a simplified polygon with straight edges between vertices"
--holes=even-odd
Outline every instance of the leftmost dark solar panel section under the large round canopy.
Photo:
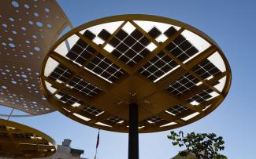
[[72,72],[64,67],[61,64],[58,64],[58,67],[56,67],[51,73],[50,78],[53,78],[55,81],[61,81],[66,82],[69,81],[69,78],[72,77]]

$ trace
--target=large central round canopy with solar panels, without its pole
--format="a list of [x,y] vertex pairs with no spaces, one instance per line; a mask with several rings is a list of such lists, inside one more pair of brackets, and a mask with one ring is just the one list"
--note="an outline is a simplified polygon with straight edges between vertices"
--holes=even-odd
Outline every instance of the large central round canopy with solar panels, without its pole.
[[206,34],[149,15],[109,16],[76,27],[47,54],[41,83],[62,114],[95,128],[128,132],[139,104],[139,132],[178,128],[213,111],[231,70]]

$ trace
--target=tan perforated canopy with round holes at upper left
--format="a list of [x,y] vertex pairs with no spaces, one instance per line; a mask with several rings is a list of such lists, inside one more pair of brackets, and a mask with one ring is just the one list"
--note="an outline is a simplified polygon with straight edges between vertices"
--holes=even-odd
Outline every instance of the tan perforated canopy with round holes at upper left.
[[1,1],[0,21],[0,105],[30,115],[53,112],[40,91],[39,68],[59,34],[71,26],[69,19],[55,0],[11,0]]

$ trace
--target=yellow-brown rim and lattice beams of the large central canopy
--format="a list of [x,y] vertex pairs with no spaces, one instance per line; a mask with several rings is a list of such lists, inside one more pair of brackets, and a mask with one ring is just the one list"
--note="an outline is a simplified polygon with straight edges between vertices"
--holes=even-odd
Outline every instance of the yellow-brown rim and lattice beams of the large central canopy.
[[[169,37],[165,42],[157,42],[154,38],[152,38],[143,28],[139,27],[134,20],[146,20],[160,23],[172,24],[180,27],[180,30]],[[89,27],[96,26],[102,23],[123,21],[120,27],[117,28],[116,31],[111,34],[111,36],[104,42],[102,45],[97,45],[95,42],[92,42],[89,38],[80,34],[80,31],[87,29]],[[117,34],[118,31],[124,27],[124,24],[130,22],[132,25],[139,30],[143,36],[150,39],[150,42],[153,42],[154,45],[157,46],[152,52],[150,52],[143,60],[140,60],[139,63],[136,63],[133,67],[128,66],[122,60],[118,60],[116,56],[113,56],[111,53],[107,52],[103,49],[108,42]],[[189,60],[187,63],[181,62],[176,56],[169,53],[165,47],[169,45],[173,40],[178,37],[183,31],[191,31],[204,40],[210,43],[210,47],[193,59]],[[96,50],[96,53],[91,56],[87,62],[83,63],[83,66],[79,66],[76,63],[73,63],[72,60],[65,58],[55,52],[54,50],[64,42],[67,38],[76,34],[83,42],[86,42],[93,49]],[[166,75],[164,78],[157,82],[152,82],[149,79],[145,78],[143,75],[138,73],[138,70],[143,67],[146,63],[148,63],[154,56],[156,56],[159,52],[165,52],[169,58],[174,60],[179,64],[180,67],[173,70],[170,74]],[[193,68],[198,65],[198,63],[202,62],[202,60],[206,60],[209,56],[213,55],[214,52],[218,52],[224,61],[224,65],[226,70],[217,76],[214,76],[210,80],[203,79],[198,74],[195,73]],[[102,78],[98,78],[95,74],[92,74],[90,71],[83,69],[83,67],[87,66],[88,63],[95,58],[98,54],[105,56],[106,59],[120,67],[124,70],[125,74],[117,81],[110,84],[109,82],[103,80]],[[52,58],[56,60],[58,63],[61,63],[63,66],[68,68],[72,73],[72,77],[69,78],[68,81],[64,83],[59,83],[54,81],[52,78],[46,77],[44,75],[46,69],[46,63]],[[184,92],[182,96],[174,96],[172,93],[167,92],[165,89],[168,85],[176,81],[178,78],[181,78],[184,74],[189,73],[193,75],[196,79],[202,82],[202,85],[198,85],[187,92]],[[66,85],[72,81],[73,78],[79,75],[83,80],[91,83],[91,85],[95,85],[102,92],[98,93],[98,95],[93,98],[88,98],[81,94],[81,92],[76,91],[75,89],[71,89]],[[217,81],[221,80],[221,78],[226,78],[224,83],[224,89],[219,91],[214,87]],[[220,103],[224,100],[225,96],[228,94],[228,90],[231,85],[231,69],[228,65],[228,60],[225,58],[223,52],[219,48],[219,46],[213,42],[211,38],[209,38],[206,34],[202,33],[202,31],[198,31],[195,27],[191,27],[186,23],[182,23],[177,20],[172,20],[169,18],[161,17],[161,16],[150,16],[150,15],[121,15],[121,16],[109,16],[106,18],[102,18],[99,20],[93,20],[91,22],[85,23],[80,27],[74,28],[69,33],[65,34],[62,38],[56,42],[50,52],[46,55],[43,60],[43,65],[41,68],[41,84],[43,92],[48,99],[48,101],[57,108],[62,114],[65,116],[72,118],[75,121],[78,121],[84,125],[89,125],[94,128],[101,128],[108,131],[113,132],[128,132],[128,122],[129,122],[129,104],[130,103],[138,103],[139,105],[139,132],[159,132],[165,131],[172,128],[179,128],[184,125],[188,125],[191,122],[197,121],[200,118],[210,114],[213,110],[220,105]],[[51,93],[47,87],[46,82],[50,83],[50,85],[54,86],[54,89],[57,89],[56,92]],[[219,96],[214,97],[206,102],[200,103],[198,106],[193,106],[191,103],[187,102],[192,96],[195,96],[199,92],[202,92],[205,89],[212,89],[217,92]],[[54,96],[63,91],[70,96],[75,97],[76,99],[80,99],[83,102],[83,105],[80,107],[72,107],[68,103],[62,103],[60,100],[55,98]],[[182,105],[187,108],[187,111],[177,115],[167,114],[165,110],[175,107],[177,104]],[[87,113],[83,111],[83,108],[93,106],[100,110],[103,110],[104,113],[95,116],[93,114]],[[189,120],[184,120],[183,118],[198,113],[195,117],[191,117]],[[82,117],[87,117],[90,120],[83,120],[81,117],[77,117],[74,114],[79,114]],[[150,123],[148,122],[149,117],[161,117],[161,121]],[[121,117],[124,121],[122,123],[113,123],[109,121],[109,117]],[[98,125],[100,123],[101,125]],[[171,124],[175,123],[175,124]],[[102,125],[103,124],[103,125]],[[170,125],[168,125],[170,124]],[[166,126],[163,126],[166,125]]]

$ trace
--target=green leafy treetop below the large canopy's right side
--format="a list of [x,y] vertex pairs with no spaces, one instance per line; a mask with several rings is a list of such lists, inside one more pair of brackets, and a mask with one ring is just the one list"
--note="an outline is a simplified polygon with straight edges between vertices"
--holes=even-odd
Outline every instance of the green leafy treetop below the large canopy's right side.
[[198,159],[227,159],[224,155],[218,154],[224,150],[224,140],[221,136],[216,136],[214,133],[188,133],[184,136],[184,132],[176,133],[172,131],[169,139],[173,140],[173,146],[185,146],[186,150],[180,151],[180,156],[187,154],[195,154]]

